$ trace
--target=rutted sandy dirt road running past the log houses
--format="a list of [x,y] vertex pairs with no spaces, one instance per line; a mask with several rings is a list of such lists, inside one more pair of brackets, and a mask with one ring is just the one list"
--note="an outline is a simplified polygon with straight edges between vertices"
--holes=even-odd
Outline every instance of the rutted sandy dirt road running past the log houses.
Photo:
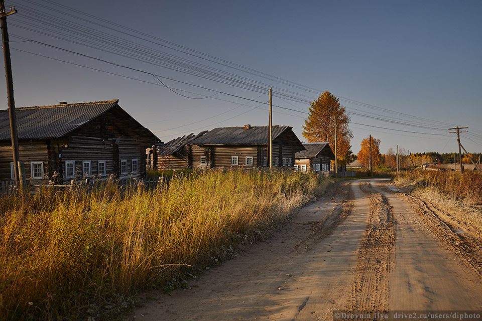
[[[333,310],[482,310],[480,235],[384,179],[338,184],[275,237],[137,320],[330,320]],[[162,302],[162,303],[161,303]]]

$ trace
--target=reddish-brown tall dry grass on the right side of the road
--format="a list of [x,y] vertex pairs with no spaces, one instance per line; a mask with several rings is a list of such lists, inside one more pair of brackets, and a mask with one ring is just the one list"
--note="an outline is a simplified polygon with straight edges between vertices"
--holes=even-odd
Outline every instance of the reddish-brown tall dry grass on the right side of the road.
[[396,175],[396,181],[408,187],[436,188],[446,196],[468,205],[482,204],[482,175],[465,171],[404,171]]

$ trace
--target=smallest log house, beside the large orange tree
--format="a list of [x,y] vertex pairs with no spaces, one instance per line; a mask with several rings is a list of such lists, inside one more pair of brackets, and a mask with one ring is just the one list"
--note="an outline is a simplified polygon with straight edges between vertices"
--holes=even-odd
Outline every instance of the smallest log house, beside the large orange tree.
[[295,155],[295,168],[301,172],[329,172],[335,155],[327,142],[304,143],[305,150]]

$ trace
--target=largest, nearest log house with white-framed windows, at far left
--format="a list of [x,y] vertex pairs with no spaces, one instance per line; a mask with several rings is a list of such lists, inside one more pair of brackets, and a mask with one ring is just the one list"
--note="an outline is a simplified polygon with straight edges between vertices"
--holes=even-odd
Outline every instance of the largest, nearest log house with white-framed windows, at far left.
[[[20,161],[30,184],[141,177],[159,138],[118,100],[16,108]],[[9,114],[0,111],[0,180],[14,178]]]

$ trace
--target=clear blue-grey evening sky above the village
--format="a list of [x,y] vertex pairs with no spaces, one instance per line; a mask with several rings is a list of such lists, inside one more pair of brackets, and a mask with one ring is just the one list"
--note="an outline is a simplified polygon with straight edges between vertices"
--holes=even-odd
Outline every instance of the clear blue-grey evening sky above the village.
[[[482,2],[5,0],[17,107],[119,99],[167,142],[289,125],[329,91],[353,152],[482,151]],[[0,109],[7,108],[0,85]]]

